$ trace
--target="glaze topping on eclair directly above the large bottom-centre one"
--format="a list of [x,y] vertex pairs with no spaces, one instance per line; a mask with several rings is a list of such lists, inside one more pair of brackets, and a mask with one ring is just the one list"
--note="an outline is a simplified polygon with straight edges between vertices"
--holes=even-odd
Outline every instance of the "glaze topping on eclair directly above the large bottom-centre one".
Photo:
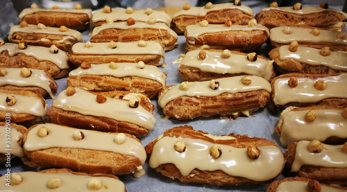
[[167,103],[173,101],[180,96],[219,96],[223,93],[236,94],[237,92],[256,91],[264,89],[271,93],[271,85],[269,81],[258,76],[249,76],[252,80],[251,85],[242,85],[241,78],[244,76],[235,76],[231,78],[219,78],[218,89],[211,89],[210,80],[202,82],[188,82],[189,89],[187,91],[180,90],[180,85],[170,87],[164,92],[159,99],[158,104],[164,108]]

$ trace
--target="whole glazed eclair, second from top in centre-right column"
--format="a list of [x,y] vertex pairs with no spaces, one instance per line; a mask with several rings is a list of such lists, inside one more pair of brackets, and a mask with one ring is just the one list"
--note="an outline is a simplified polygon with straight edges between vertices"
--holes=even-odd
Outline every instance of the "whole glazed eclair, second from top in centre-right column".
[[187,46],[185,49],[229,49],[242,52],[256,51],[269,37],[269,30],[252,19],[248,26],[226,24],[208,24],[185,28]]

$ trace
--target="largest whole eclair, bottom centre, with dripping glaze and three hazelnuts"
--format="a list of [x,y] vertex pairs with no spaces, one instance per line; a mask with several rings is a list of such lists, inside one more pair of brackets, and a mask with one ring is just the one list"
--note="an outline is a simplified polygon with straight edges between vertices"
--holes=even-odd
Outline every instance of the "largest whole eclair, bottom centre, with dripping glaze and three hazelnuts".
[[255,184],[276,178],[285,164],[272,141],[239,134],[216,136],[189,125],[165,130],[145,149],[151,168],[184,183]]

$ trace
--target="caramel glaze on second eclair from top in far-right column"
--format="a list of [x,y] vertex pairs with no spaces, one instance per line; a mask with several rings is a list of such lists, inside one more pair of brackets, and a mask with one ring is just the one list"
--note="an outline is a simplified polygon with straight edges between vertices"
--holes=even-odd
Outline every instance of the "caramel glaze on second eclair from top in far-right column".
[[310,32],[310,28],[299,28],[291,26],[291,34],[286,35],[283,33],[285,26],[271,28],[270,40],[272,42],[287,44],[293,41],[299,42],[328,42],[334,44],[347,44],[347,35],[343,39],[336,37],[338,31],[335,30],[319,30],[320,35],[315,36]]

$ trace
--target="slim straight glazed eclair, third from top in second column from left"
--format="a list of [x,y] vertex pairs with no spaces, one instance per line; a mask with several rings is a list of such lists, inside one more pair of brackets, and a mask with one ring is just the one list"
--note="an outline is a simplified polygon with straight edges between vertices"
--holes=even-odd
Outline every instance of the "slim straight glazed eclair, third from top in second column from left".
[[101,64],[109,62],[139,62],[158,66],[164,58],[164,49],[158,42],[76,43],[69,60],[79,67],[82,62]]

